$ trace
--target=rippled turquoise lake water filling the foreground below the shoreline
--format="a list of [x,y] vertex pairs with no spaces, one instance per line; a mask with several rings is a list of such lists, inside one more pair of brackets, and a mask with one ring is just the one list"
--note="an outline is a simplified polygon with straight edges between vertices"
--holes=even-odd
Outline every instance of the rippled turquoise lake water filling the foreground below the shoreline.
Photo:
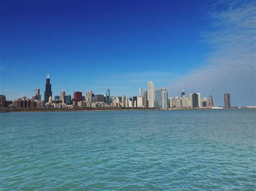
[[256,189],[256,110],[0,114],[0,189]]

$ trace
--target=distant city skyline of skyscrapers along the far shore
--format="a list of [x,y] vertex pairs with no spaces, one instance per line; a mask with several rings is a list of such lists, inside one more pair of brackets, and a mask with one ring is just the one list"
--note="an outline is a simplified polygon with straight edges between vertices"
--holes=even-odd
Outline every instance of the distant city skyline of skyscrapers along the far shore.
[[[231,108],[230,94],[224,95],[225,108]],[[93,94],[91,90],[85,92],[75,91],[73,96],[66,95],[62,90],[60,95],[52,98],[50,75],[46,77],[44,100],[41,99],[40,89],[36,88],[35,96],[32,98],[17,98],[12,101],[6,101],[4,95],[0,95],[0,107],[9,108],[214,108],[214,99],[210,95],[201,98],[200,93],[191,93],[186,97],[185,90],[181,90],[181,97],[169,97],[167,89],[154,89],[154,82],[148,82],[147,90],[139,87],[139,95],[133,97],[111,96],[110,89],[106,89],[104,95]]]

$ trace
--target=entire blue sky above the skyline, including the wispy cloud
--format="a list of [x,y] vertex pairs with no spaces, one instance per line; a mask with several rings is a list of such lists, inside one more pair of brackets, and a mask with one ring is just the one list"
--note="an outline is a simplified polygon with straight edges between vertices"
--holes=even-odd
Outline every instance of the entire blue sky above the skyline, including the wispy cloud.
[[[1,1],[0,94],[181,89],[256,105],[255,1]],[[42,96],[43,97],[43,96]]]

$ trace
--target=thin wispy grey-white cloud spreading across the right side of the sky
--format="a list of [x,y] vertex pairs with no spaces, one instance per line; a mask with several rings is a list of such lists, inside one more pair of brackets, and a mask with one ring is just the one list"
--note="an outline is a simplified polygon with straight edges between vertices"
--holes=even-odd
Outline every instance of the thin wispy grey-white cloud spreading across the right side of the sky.
[[213,95],[216,104],[223,105],[224,93],[228,92],[232,105],[255,105],[255,12],[255,1],[214,4],[208,17],[210,31],[204,36],[214,51],[203,68],[167,86],[171,95],[179,95],[185,87],[189,93]]

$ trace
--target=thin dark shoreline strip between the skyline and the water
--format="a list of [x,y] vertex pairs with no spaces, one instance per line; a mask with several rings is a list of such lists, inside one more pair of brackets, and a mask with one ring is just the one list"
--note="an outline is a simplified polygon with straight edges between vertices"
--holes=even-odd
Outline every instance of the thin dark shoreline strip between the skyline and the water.
[[[255,109],[255,108],[221,108],[222,109]],[[0,113],[2,112],[68,112],[68,111],[170,111],[170,110],[219,110],[213,108],[169,108],[169,109],[160,109],[160,108],[31,108],[31,109],[21,109],[21,108],[1,108]]]

